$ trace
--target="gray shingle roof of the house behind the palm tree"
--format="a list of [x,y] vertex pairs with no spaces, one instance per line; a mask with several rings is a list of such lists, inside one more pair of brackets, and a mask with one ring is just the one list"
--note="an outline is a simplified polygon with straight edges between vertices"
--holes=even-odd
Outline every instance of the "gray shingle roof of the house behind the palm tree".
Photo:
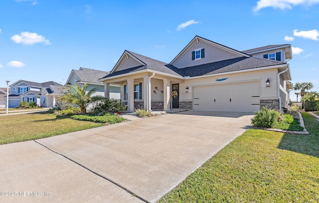
[[110,72],[106,72],[102,70],[94,70],[94,69],[82,68],[82,67],[79,70],[73,70],[73,71],[78,76],[79,81],[94,82],[94,83],[101,83],[101,84],[103,84],[103,82],[98,81],[98,79],[110,73]]

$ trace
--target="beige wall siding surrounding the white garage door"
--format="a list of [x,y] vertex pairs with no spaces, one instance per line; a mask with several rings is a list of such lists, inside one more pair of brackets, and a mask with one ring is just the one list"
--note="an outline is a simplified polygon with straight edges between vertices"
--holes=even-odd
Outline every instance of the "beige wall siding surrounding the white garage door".
[[[216,81],[217,78],[228,78],[224,81]],[[271,86],[266,87],[266,80],[269,78]],[[211,76],[205,78],[188,79],[185,83],[179,84],[179,101],[192,101],[192,90],[196,86],[205,85],[222,85],[222,84],[236,84],[240,85],[242,82],[259,81],[260,99],[278,99],[276,85],[277,69],[250,71],[245,73],[226,74],[219,76]],[[185,88],[188,87],[188,93]]]

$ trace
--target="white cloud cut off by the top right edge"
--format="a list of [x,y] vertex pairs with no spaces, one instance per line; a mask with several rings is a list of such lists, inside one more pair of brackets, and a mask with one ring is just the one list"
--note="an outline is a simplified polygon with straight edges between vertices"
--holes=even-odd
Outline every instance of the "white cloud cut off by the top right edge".
[[292,5],[311,6],[316,3],[319,3],[319,0],[259,0],[253,10],[257,12],[266,7],[280,8],[284,10],[287,8],[291,9]]

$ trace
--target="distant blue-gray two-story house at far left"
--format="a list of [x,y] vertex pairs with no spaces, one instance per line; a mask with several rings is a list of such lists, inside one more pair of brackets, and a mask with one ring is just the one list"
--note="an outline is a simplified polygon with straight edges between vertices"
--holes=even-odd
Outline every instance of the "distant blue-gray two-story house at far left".
[[38,83],[18,80],[9,85],[11,91],[8,107],[17,107],[21,101],[35,102],[38,106],[42,107],[54,107],[56,94],[53,94],[53,92],[50,92],[50,94],[46,93],[46,90],[52,89],[57,91],[61,86],[61,84],[53,81]]

